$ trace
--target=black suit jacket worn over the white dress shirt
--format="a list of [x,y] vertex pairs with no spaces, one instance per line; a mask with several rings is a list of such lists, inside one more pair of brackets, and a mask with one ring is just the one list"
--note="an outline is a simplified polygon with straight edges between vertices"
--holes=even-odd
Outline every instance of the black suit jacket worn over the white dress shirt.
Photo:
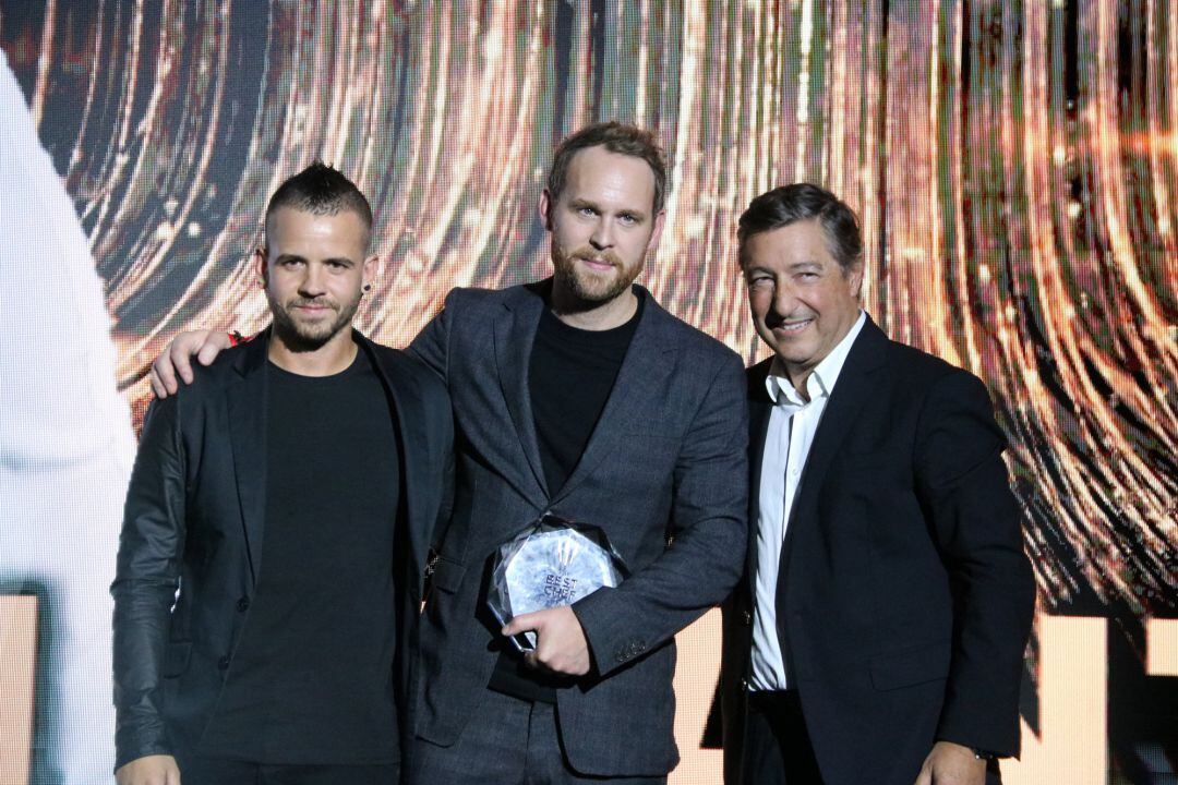
[[[769,365],[748,372],[754,533],[724,606],[729,784],[740,781]],[[1004,447],[977,377],[867,320],[810,447],[777,580],[777,634],[827,785],[911,785],[938,739],[1018,753],[1034,581]]]

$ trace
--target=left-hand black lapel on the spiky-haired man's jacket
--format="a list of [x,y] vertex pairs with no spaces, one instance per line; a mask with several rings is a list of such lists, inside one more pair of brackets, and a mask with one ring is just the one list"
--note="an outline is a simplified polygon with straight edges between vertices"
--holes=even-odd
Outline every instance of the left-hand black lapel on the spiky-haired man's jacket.
[[266,330],[233,361],[239,381],[225,391],[233,475],[245,526],[250,576],[254,584],[262,567],[262,530],[266,518]]

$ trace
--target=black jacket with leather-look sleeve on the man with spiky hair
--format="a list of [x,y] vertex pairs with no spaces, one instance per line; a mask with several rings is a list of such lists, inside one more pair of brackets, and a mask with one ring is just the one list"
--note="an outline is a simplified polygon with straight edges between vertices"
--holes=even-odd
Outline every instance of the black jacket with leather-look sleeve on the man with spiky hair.
[[[398,541],[408,543],[396,554],[405,610],[398,634],[412,645],[429,544],[448,513],[450,401],[428,368],[355,337],[396,411]],[[171,753],[177,739],[188,749],[197,743],[224,683],[218,664],[232,657],[246,623],[266,508],[267,338],[269,331],[207,368],[196,366],[197,381],[154,401],[144,421],[111,586],[117,766]],[[409,660],[398,660],[402,694],[410,690]]]

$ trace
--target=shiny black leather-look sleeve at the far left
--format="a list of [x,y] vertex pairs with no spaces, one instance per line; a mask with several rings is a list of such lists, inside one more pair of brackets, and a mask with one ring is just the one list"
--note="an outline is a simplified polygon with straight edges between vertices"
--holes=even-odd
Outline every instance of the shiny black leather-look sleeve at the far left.
[[147,411],[124,507],[111,585],[115,769],[144,756],[171,753],[160,671],[185,538],[179,400],[170,395]]

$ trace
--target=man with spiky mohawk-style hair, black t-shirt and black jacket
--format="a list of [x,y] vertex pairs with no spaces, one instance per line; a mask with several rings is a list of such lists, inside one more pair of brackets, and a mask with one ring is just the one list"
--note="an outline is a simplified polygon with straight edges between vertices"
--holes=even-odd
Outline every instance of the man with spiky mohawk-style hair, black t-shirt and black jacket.
[[389,785],[444,495],[445,388],[352,318],[372,212],[315,164],[266,209],[273,321],[152,404],[119,546],[119,785]]

